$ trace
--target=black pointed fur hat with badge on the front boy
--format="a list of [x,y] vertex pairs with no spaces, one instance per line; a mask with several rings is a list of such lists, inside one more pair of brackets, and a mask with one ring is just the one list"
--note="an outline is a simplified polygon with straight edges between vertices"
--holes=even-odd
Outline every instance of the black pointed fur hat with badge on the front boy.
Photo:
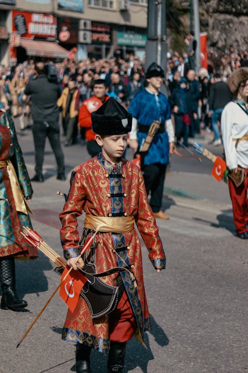
[[132,115],[113,97],[91,113],[92,130],[99,135],[123,135],[132,128]]

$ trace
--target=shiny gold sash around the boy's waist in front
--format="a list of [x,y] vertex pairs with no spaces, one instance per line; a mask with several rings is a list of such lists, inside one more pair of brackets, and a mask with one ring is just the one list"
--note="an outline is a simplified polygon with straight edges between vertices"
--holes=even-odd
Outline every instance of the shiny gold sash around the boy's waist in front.
[[132,216],[104,217],[86,214],[84,226],[99,232],[124,233],[134,228],[134,219]]

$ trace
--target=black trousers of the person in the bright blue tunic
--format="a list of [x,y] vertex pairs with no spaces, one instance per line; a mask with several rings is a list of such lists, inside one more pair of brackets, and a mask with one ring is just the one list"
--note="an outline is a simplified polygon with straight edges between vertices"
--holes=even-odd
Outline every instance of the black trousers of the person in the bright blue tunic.
[[146,193],[151,192],[149,203],[153,212],[158,212],[162,207],[166,167],[160,163],[142,167]]

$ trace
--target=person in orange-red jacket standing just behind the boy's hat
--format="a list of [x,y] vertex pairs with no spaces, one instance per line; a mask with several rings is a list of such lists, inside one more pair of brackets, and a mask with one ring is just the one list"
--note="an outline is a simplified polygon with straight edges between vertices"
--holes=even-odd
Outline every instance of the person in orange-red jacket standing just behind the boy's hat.
[[101,147],[95,140],[95,133],[92,131],[91,113],[96,111],[102,104],[109,99],[107,95],[108,85],[105,80],[97,79],[93,82],[94,95],[82,102],[79,109],[78,123],[80,127],[86,128],[85,137],[87,140],[87,150],[93,158],[101,151]]

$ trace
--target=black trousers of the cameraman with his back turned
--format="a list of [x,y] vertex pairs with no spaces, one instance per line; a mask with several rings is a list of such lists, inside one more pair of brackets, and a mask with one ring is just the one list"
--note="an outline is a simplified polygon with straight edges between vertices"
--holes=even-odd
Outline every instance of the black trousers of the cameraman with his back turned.
[[53,149],[57,166],[58,174],[64,173],[64,155],[61,147],[59,123],[43,123],[36,122],[33,124],[33,137],[35,146],[35,172],[37,175],[42,175],[42,167],[44,162],[44,151],[46,138],[48,137],[50,145]]

